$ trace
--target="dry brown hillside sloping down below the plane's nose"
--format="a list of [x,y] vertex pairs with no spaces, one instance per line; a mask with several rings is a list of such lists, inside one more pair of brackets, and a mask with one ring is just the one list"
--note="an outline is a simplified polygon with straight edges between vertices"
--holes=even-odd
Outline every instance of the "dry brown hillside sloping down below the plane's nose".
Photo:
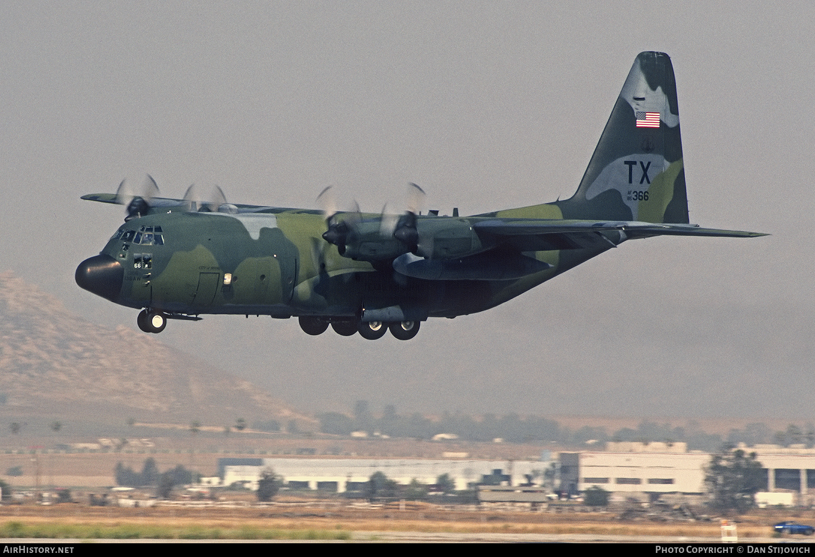
[[0,273],[0,414],[88,423],[310,423],[283,401],[128,327],[112,331]]

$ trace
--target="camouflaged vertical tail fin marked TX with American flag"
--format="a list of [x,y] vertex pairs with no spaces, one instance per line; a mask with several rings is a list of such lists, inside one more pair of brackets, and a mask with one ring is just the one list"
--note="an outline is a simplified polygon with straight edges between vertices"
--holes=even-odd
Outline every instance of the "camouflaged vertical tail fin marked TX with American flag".
[[689,221],[667,54],[641,52],[634,60],[577,192],[555,204],[566,219]]

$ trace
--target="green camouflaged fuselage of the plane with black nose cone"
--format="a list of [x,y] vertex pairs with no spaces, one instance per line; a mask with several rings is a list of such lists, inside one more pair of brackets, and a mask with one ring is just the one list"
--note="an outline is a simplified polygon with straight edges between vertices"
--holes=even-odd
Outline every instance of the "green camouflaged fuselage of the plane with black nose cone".
[[551,266],[515,280],[426,280],[394,272],[390,261],[375,268],[342,257],[324,230],[316,211],[152,213],[126,221],[99,256],[83,261],[77,283],[170,315],[423,321],[489,309],[605,251],[526,253]]

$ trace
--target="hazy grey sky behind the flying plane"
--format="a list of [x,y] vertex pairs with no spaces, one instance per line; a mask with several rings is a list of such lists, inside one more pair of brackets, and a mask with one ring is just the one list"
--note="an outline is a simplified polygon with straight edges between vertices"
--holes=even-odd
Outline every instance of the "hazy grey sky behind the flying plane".
[[[661,7],[665,6],[665,7]],[[672,56],[691,221],[411,342],[242,316],[157,336],[302,410],[815,419],[813,2],[3,2],[0,270],[91,322],[122,178],[481,213],[575,191],[634,57]]]

